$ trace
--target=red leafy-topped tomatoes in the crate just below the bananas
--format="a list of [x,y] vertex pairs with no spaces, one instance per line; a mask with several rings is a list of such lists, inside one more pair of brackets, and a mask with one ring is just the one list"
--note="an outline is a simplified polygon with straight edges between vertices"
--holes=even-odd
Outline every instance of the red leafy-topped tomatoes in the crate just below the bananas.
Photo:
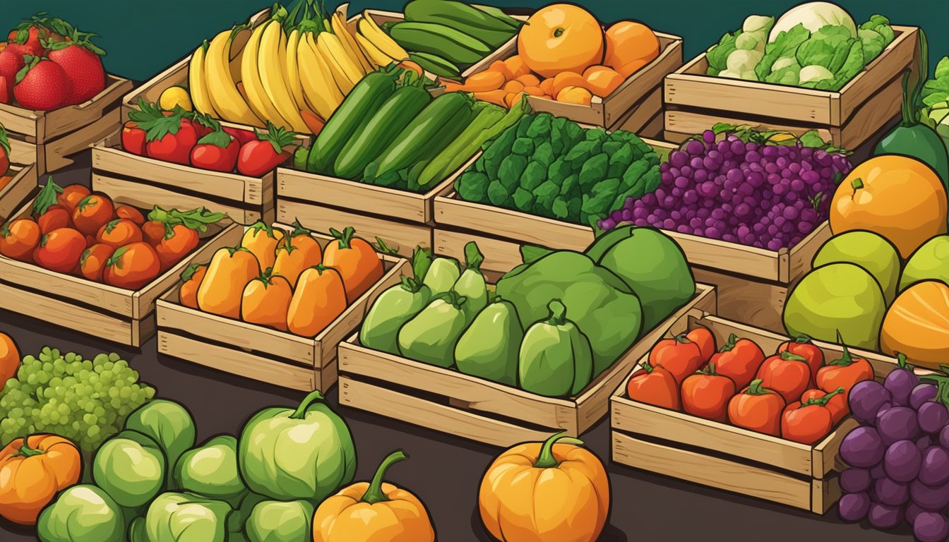
[[290,158],[296,134],[267,123],[266,132],[222,127],[175,106],[163,110],[139,100],[121,130],[121,148],[133,155],[200,169],[260,177]]

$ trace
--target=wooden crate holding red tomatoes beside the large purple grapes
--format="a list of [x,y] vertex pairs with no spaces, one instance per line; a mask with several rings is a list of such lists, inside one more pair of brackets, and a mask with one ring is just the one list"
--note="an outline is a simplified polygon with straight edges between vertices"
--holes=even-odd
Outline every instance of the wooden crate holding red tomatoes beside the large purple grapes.
[[[712,315],[683,318],[669,328],[666,338],[698,326],[710,329],[719,345],[735,333],[754,340],[767,354],[789,340]],[[814,344],[828,361],[839,359],[843,351],[837,345]],[[850,352],[872,364],[881,382],[897,366],[896,360],[881,354],[852,348]],[[643,355],[640,364],[647,359],[648,354]],[[625,395],[630,376],[610,398],[614,462],[815,514],[826,513],[840,498],[837,451],[847,433],[858,425],[852,418],[847,417],[827,438],[809,446],[632,401]]]

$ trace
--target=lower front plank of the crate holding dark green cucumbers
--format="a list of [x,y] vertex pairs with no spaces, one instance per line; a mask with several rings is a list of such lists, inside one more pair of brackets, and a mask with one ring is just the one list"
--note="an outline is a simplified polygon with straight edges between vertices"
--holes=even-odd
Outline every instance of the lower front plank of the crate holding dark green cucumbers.
[[277,221],[287,224],[294,220],[315,232],[326,233],[330,228],[352,226],[367,239],[381,237],[402,256],[409,257],[416,246],[432,247],[432,228],[427,225],[409,224],[393,219],[380,218],[361,213],[351,213],[332,207],[322,207],[293,199],[277,197]]

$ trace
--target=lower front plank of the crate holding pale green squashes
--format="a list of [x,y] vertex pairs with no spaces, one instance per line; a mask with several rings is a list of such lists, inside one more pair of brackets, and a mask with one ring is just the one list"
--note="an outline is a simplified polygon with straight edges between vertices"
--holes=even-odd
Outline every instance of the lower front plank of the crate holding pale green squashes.
[[519,427],[340,375],[340,404],[494,446],[542,441],[548,431]]

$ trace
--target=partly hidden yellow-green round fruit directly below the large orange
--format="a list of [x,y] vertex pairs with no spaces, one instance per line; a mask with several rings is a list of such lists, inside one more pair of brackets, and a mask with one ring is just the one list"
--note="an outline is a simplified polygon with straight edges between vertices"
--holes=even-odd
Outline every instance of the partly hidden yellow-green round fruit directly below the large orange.
[[883,236],[858,230],[830,237],[814,255],[812,267],[835,263],[857,264],[869,271],[880,283],[887,307],[896,299],[900,253]]

